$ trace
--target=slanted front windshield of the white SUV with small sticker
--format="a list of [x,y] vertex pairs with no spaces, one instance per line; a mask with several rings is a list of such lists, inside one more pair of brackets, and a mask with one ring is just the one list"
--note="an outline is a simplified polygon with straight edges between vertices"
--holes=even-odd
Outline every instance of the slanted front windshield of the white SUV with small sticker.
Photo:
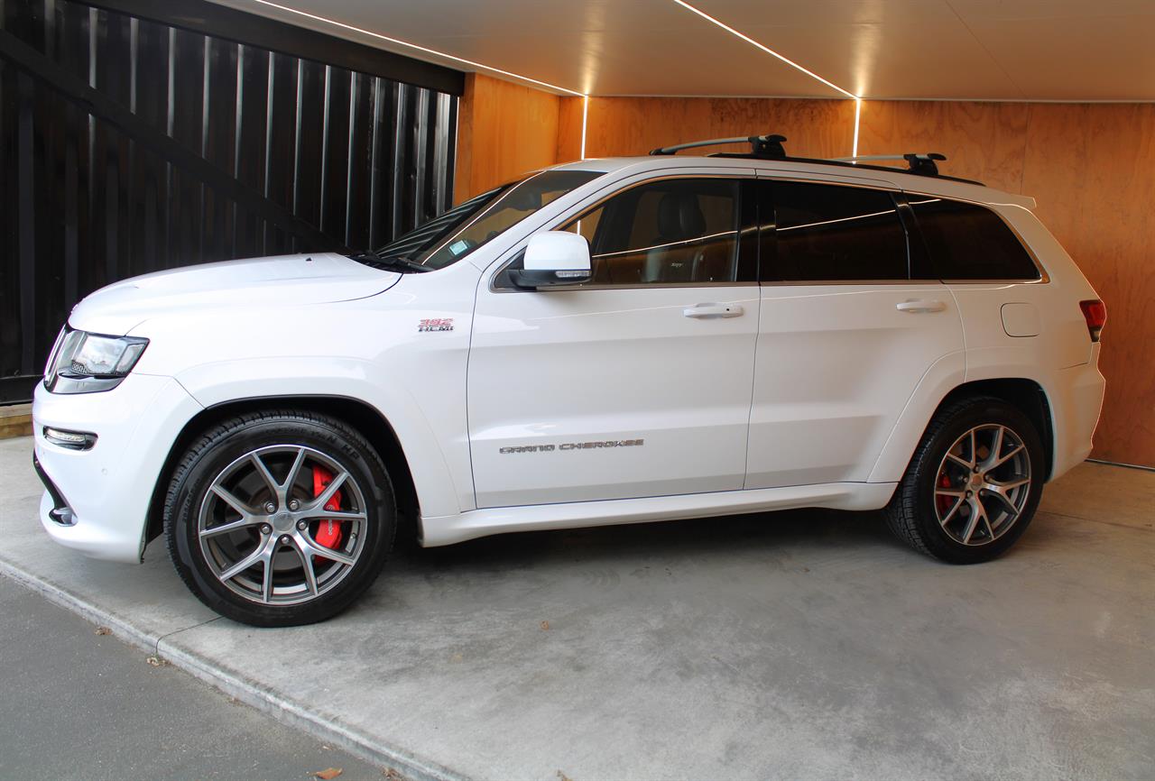
[[602,175],[601,171],[543,171],[502,185],[454,206],[440,217],[375,250],[444,269],[526,219],[542,206]]

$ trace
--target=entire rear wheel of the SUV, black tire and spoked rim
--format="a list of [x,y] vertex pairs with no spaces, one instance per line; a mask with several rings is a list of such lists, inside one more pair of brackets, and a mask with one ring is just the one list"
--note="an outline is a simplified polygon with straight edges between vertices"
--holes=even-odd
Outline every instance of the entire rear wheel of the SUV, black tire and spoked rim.
[[963,399],[931,421],[886,516],[917,550],[955,564],[985,562],[1027,530],[1043,480],[1030,420],[997,398]]

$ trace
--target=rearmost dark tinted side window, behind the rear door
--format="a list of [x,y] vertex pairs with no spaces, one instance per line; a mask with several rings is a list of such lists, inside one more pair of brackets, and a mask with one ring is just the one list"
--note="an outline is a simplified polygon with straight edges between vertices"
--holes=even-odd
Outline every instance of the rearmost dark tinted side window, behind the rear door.
[[1022,242],[985,206],[927,195],[908,196],[941,279],[1038,279]]

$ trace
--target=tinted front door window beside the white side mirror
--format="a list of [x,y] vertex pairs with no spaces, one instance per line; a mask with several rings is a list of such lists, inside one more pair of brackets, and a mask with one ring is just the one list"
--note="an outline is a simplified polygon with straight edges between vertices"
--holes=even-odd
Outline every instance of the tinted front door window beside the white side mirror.
[[589,240],[593,285],[752,281],[738,224],[736,180],[671,179],[616,195],[561,230]]

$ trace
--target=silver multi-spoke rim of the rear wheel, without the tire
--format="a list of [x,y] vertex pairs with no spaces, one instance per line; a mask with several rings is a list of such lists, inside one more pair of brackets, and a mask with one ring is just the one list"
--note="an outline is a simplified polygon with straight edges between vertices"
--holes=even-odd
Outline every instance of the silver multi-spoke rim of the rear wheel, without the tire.
[[976,426],[942,457],[934,511],[952,540],[983,546],[1014,526],[1030,490],[1030,456],[1022,437],[999,423]]

